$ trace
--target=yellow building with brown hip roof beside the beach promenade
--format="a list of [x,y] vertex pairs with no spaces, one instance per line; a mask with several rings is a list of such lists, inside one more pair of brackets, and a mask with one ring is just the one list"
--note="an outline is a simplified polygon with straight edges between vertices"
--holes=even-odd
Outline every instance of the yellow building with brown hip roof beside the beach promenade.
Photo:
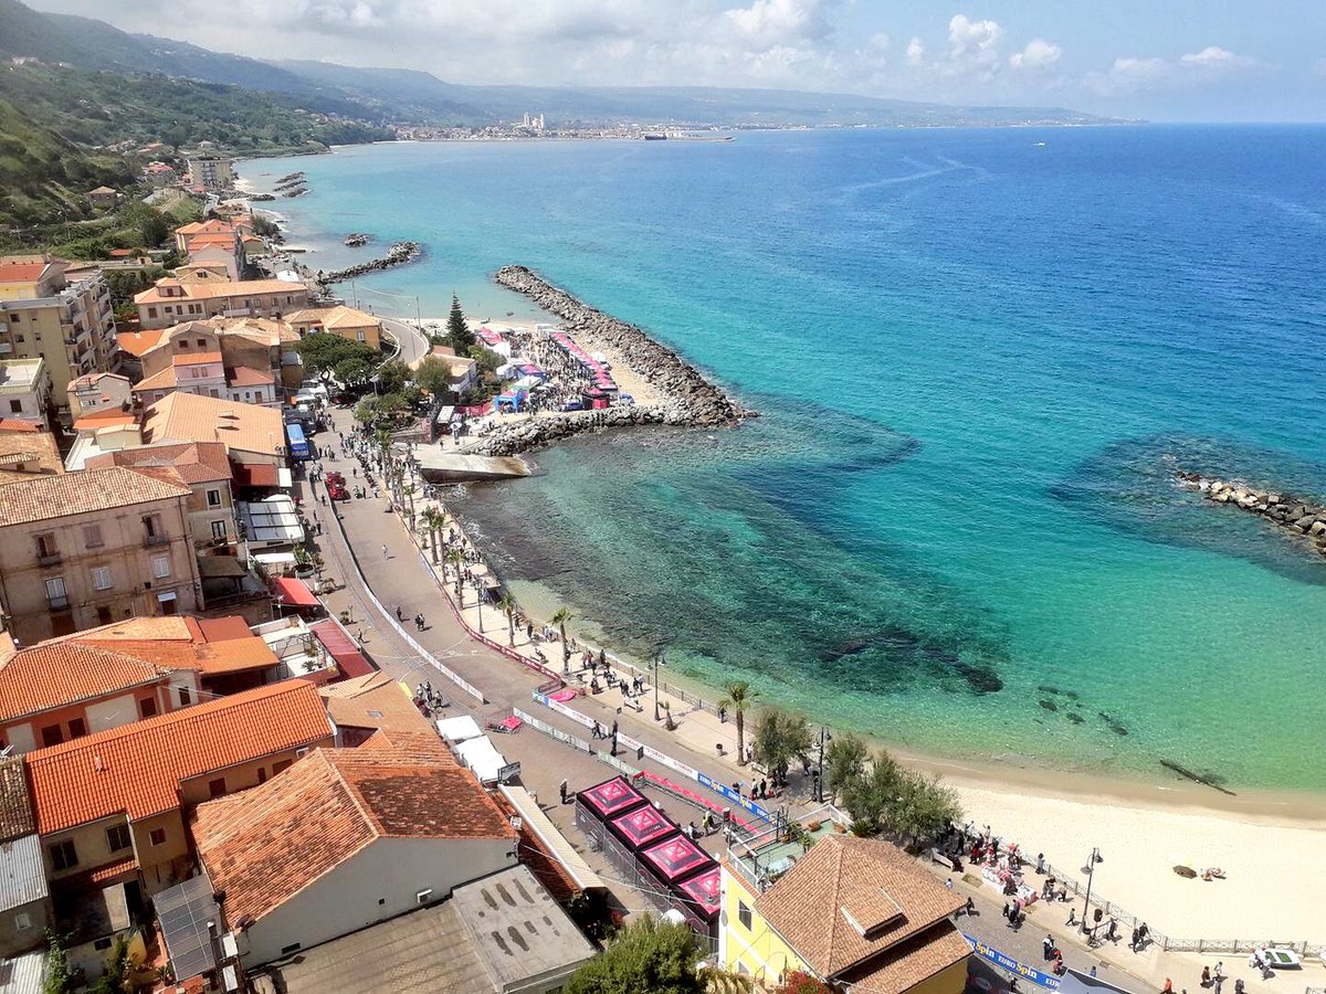
[[963,904],[884,842],[757,838],[723,860],[719,961],[770,987],[801,970],[853,994],[961,994]]

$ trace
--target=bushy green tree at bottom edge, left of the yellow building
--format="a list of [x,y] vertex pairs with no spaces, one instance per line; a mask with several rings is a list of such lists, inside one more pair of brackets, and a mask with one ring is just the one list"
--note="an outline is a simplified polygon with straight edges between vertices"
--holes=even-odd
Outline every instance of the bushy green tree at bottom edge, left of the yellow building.
[[686,925],[634,921],[566,982],[566,994],[701,994],[700,944]]

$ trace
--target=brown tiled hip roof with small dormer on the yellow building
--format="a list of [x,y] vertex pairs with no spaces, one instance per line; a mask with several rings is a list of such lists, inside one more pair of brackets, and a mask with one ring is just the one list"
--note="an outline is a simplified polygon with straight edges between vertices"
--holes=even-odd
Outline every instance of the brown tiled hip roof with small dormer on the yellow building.
[[930,929],[965,900],[886,842],[827,835],[754,908],[815,973],[833,977]]

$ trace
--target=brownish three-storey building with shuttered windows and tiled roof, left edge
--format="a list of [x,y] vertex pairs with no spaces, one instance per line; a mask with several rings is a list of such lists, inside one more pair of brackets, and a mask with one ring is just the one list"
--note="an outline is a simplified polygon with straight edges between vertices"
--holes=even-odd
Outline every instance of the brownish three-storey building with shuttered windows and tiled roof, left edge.
[[0,611],[33,644],[125,618],[198,608],[188,524],[175,473],[122,467],[0,486]]

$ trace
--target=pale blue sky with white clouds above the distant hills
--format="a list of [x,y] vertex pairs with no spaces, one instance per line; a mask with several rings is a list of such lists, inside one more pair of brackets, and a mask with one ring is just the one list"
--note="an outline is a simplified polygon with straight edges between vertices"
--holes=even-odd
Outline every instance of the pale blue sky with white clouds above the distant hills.
[[36,0],[257,58],[1326,121],[1326,0]]

